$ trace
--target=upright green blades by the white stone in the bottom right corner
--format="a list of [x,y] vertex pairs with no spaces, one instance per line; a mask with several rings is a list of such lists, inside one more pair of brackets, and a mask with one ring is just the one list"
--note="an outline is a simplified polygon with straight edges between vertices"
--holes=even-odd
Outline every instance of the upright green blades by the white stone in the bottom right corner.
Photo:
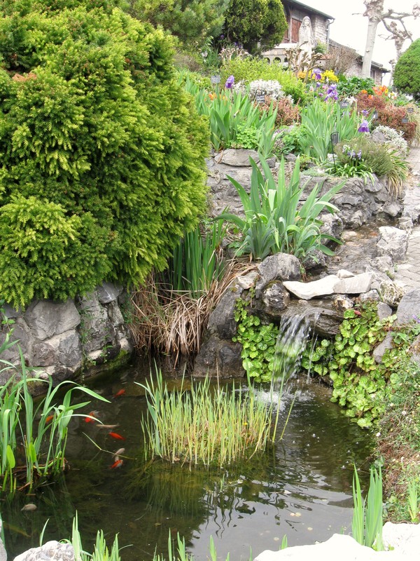
[[375,468],[370,468],[370,484],[367,498],[363,499],[360,490],[360,481],[356,466],[353,475],[353,520],[351,532],[353,538],[362,546],[374,548],[377,551],[384,550],[382,543],[382,473]]

